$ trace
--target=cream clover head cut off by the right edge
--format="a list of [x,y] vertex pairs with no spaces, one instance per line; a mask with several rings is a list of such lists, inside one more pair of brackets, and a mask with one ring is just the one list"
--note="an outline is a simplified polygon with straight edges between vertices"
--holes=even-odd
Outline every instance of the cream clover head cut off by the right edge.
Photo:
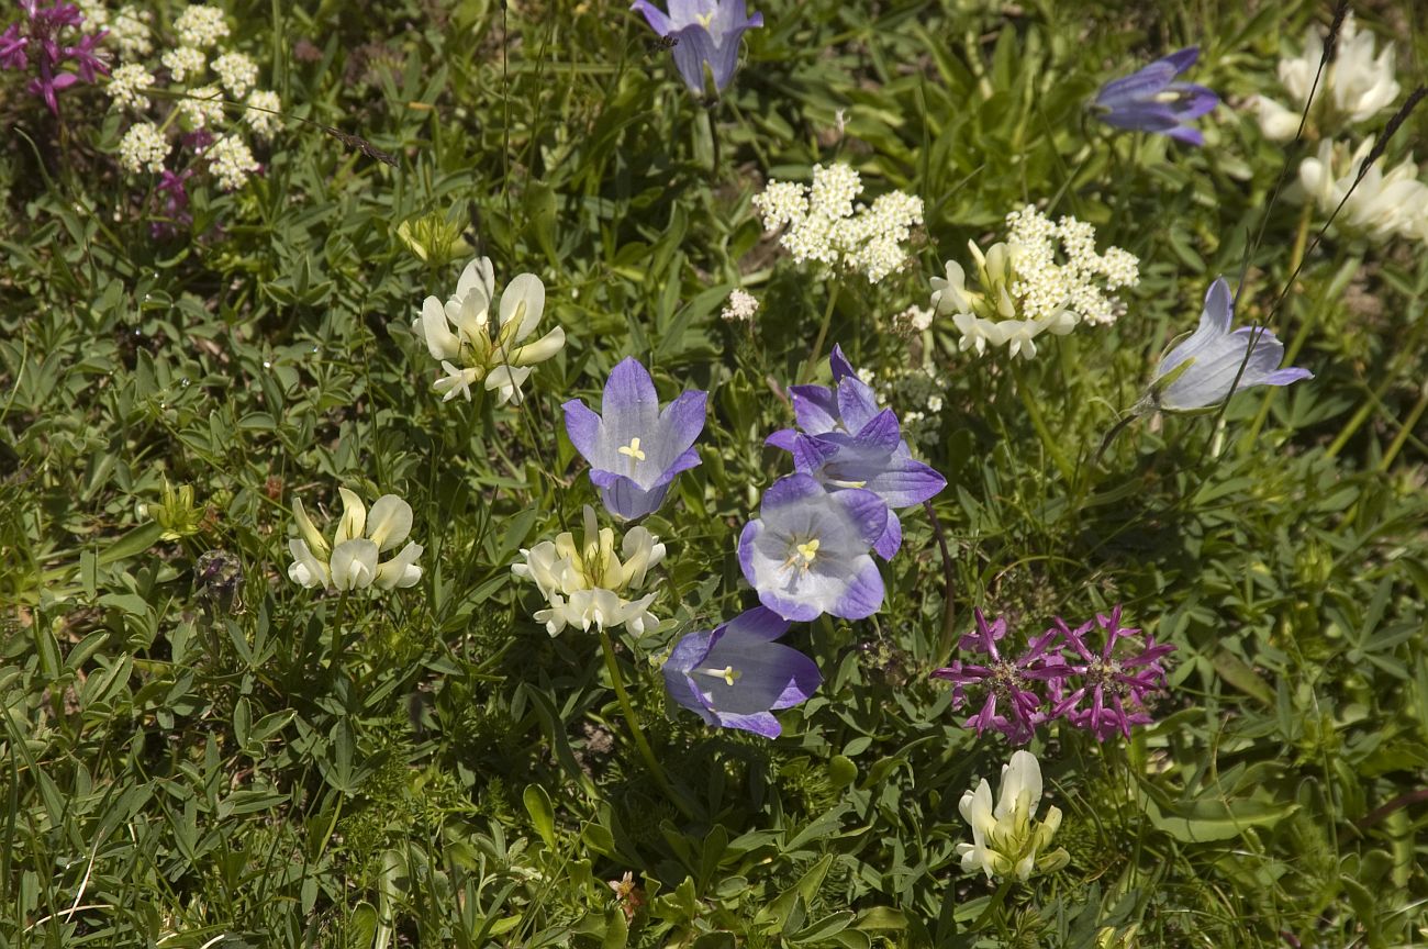
[[1428,186],[1418,180],[1418,166],[1411,158],[1388,173],[1375,161],[1354,184],[1372,146],[1372,140],[1365,140],[1348,154],[1347,146],[1321,141],[1318,154],[1299,163],[1305,198],[1324,214],[1338,208],[1334,224],[1349,234],[1378,243],[1395,235],[1422,240],[1428,228]]

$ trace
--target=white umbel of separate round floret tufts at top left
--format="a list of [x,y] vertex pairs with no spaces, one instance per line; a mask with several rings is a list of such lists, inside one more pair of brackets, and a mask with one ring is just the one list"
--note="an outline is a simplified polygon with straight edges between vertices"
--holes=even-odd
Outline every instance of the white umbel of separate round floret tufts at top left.
[[[203,128],[211,131],[216,140],[207,148],[197,146],[201,148],[198,157],[207,163],[220,187],[228,191],[241,188],[261,166],[253,157],[240,126],[226,113],[224,100],[246,100],[246,104],[254,106],[243,113],[243,121],[253,134],[264,138],[278,127],[274,113],[281,110],[281,101],[277,94],[256,88],[258,66],[250,56],[218,46],[228,37],[223,11],[203,4],[184,7],[174,20],[171,44],[157,63],[146,61],[154,47],[147,11],[124,6],[110,13],[100,0],[87,0],[89,14],[96,23],[109,26],[110,39],[120,37],[120,59],[130,60],[116,66],[109,80],[116,108],[141,117],[120,144],[123,167],[136,174],[143,170],[160,173],[164,170],[163,156],[170,151],[163,133],[171,127],[184,131]],[[170,113],[149,121],[154,103],[147,93],[160,84],[161,77],[169,80],[169,97],[160,108]]]

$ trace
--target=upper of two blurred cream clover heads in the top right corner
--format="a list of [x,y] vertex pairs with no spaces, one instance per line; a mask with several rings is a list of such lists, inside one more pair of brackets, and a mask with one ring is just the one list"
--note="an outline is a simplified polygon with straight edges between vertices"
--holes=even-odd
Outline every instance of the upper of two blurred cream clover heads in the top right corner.
[[1344,19],[1339,29],[1338,49],[1334,61],[1319,74],[1324,60],[1324,39],[1311,27],[1304,41],[1304,54],[1297,59],[1279,60],[1279,83],[1289,93],[1291,107],[1265,96],[1255,97],[1259,127],[1264,134],[1277,141],[1292,138],[1299,128],[1299,117],[1314,90],[1314,108],[1319,131],[1332,136],[1347,124],[1367,121],[1394,104],[1399,86],[1394,80],[1394,44],[1374,54],[1374,34],[1359,33],[1354,14]]

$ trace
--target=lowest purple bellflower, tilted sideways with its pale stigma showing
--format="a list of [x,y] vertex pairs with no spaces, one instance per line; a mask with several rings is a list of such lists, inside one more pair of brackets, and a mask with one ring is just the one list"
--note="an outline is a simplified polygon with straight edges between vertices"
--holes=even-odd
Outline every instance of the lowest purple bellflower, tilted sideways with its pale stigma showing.
[[813,659],[774,642],[788,621],[754,607],[713,632],[691,632],[664,662],[670,696],[710,725],[777,738],[773,709],[804,702],[823,676]]

